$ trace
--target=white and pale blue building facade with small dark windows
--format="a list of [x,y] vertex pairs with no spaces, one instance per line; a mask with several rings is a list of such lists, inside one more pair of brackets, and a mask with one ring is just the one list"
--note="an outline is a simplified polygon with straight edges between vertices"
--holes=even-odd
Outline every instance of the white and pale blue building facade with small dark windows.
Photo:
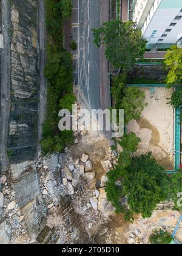
[[133,0],[133,21],[147,48],[169,48],[182,38],[182,0]]

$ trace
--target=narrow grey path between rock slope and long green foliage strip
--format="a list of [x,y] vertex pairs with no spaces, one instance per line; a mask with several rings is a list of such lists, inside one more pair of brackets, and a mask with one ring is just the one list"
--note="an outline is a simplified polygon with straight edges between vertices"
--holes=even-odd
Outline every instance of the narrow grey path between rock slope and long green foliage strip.
[[[45,68],[45,10],[44,0],[39,0],[39,113],[38,113],[38,141],[42,138],[42,124],[44,123],[47,88],[44,76]],[[39,143],[38,143],[39,144]],[[41,147],[38,145],[38,154]]]

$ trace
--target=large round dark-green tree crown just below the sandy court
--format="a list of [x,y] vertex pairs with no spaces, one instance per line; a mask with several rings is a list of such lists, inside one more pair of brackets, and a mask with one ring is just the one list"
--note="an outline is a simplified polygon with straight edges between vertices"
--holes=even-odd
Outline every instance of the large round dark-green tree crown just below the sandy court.
[[169,177],[152,154],[133,157],[123,177],[123,193],[133,213],[149,218],[169,195]]

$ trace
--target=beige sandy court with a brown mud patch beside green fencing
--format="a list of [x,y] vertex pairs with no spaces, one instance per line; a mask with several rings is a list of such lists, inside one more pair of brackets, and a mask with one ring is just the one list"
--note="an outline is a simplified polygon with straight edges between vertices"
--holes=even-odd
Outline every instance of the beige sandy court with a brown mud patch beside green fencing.
[[141,119],[130,121],[127,132],[135,132],[141,138],[137,155],[152,152],[160,165],[168,170],[174,169],[174,109],[167,104],[172,89],[155,88],[151,97],[150,88],[141,88],[146,93],[147,107]]

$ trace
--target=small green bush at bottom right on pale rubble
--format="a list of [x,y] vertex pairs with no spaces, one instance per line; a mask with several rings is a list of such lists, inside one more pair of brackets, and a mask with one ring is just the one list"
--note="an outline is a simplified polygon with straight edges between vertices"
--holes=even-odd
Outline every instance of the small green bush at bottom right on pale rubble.
[[149,238],[150,244],[170,244],[172,236],[163,230],[155,231]]

